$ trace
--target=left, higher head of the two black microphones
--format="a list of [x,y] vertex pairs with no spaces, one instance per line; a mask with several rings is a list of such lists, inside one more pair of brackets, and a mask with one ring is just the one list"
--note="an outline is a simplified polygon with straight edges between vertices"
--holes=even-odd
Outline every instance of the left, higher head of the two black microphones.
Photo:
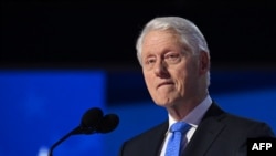
[[103,116],[104,116],[103,111],[100,108],[98,108],[98,107],[89,108],[83,115],[81,127],[95,128],[99,124],[99,122],[103,119]]

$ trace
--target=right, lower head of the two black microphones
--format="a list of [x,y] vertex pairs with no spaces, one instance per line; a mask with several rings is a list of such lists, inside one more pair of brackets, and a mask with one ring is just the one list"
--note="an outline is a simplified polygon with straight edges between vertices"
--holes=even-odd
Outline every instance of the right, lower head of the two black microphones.
[[99,126],[97,127],[98,133],[109,133],[114,131],[119,124],[119,117],[116,114],[107,114],[104,116]]

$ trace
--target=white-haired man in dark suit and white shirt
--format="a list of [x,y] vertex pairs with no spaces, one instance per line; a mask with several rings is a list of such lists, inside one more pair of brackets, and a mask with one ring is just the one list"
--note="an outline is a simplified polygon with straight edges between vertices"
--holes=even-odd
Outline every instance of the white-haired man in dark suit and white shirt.
[[191,21],[153,19],[136,49],[148,91],[169,119],[125,142],[120,156],[173,156],[167,148],[174,123],[189,125],[177,149],[184,156],[246,156],[247,138],[274,136],[268,125],[231,115],[210,97],[209,49]]

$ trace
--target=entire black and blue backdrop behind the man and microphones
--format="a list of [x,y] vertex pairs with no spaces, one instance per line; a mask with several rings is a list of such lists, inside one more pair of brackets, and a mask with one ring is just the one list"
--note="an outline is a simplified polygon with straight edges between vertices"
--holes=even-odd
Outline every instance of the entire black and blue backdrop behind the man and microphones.
[[147,93],[135,52],[142,25],[159,15],[194,21],[211,50],[211,96],[275,131],[275,2],[265,0],[2,0],[0,155],[45,155],[97,102],[119,115],[118,128],[100,144],[91,143],[95,135],[77,136],[55,152],[116,155],[126,138],[166,118]]

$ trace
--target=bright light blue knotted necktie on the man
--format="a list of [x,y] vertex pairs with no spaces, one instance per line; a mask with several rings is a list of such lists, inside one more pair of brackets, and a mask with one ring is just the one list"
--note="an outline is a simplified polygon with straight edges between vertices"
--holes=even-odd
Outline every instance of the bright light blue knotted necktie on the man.
[[187,133],[190,125],[184,122],[177,122],[171,125],[171,137],[168,141],[164,156],[179,156],[181,148],[182,134]]

